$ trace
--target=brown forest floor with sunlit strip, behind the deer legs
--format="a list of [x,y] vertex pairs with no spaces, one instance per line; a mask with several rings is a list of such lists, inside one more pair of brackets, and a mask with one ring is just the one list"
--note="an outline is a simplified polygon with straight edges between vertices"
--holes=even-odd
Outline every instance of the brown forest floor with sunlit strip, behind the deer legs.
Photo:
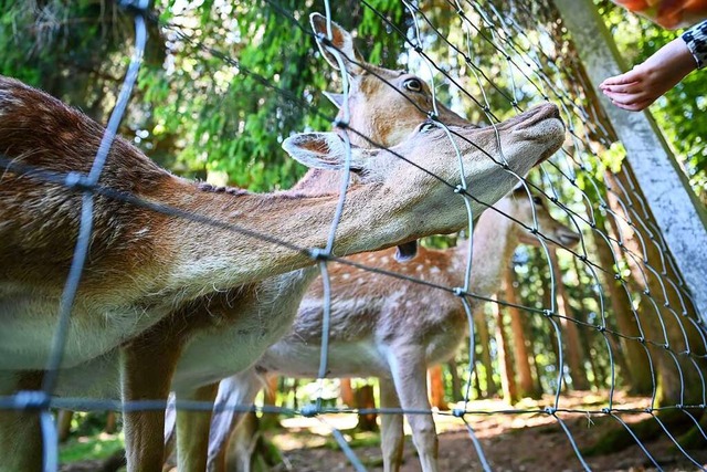
[[[526,402],[528,409],[552,405],[552,397],[538,402]],[[648,405],[646,398],[631,398],[618,394],[614,407],[641,409]],[[561,398],[561,409],[600,411],[606,397],[590,392],[566,394]],[[516,406],[515,409],[519,407]],[[475,401],[469,405],[474,411],[508,410],[500,400]],[[568,428],[580,451],[595,444],[609,430],[620,427],[619,422],[605,415],[558,412],[557,416]],[[626,423],[650,419],[647,413],[621,413]],[[460,418],[449,412],[435,415],[440,432],[440,470],[462,472],[482,470],[478,455],[469,434]],[[474,429],[484,454],[494,471],[581,471],[581,462],[573,452],[568,434],[556,418],[547,413],[479,413],[466,415],[466,421]],[[330,427],[340,430],[354,448],[358,459],[370,471],[382,470],[382,459],[378,433],[356,430],[355,415],[323,415],[319,418],[287,418],[281,427],[265,432],[267,439],[277,447],[284,461],[273,471],[335,472],[352,471],[354,468],[331,436]],[[405,450],[402,472],[420,471],[415,449],[405,426]],[[666,471],[694,471],[698,468],[689,462],[675,447],[666,433],[643,444]],[[707,463],[707,447],[690,450],[689,454],[700,464]],[[651,460],[635,442],[627,449],[589,455],[582,453],[593,471],[650,471],[655,470]],[[94,463],[95,464],[95,463]],[[86,466],[88,465],[88,469]],[[94,465],[95,466],[95,465]],[[83,461],[62,468],[63,472],[92,470]],[[97,470],[97,469],[94,469]]]

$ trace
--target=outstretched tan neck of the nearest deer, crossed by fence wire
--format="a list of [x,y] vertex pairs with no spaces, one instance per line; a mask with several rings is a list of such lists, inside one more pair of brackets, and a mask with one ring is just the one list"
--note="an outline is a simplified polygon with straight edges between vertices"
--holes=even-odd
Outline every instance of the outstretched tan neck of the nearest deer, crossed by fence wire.
[[[330,231],[338,195],[310,196],[295,190],[255,195],[194,190],[193,183],[175,179],[181,191],[169,203],[207,214],[211,220],[267,234],[298,248],[324,248]],[[354,253],[382,249],[398,243],[409,231],[397,218],[389,189],[382,185],[350,188],[341,221],[337,228],[334,253]],[[365,211],[362,211],[365,209]],[[201,222],[165,218],[160,237],[169,243],[162,254],[171,269],[162,290],[179,290],[186,297],[255,282],[284,272],[313,265],[304,250],[285,248],[236,231]],[[374,232],[365,231],[376,228]],[[186,289],[184,289],[186,287]]]

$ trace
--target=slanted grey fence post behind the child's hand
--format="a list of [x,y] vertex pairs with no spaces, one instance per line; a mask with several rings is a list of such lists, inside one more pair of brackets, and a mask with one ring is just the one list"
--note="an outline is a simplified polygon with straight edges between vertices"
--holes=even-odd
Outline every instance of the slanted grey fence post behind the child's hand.
[[574,41],[592,86],[626,149],[626,159],[645,195],[677,266],[707,322],[707,212],[648,112],[626,112],[599,91],[606,77],[625,71],[616,43],[592,0],[552,0]]

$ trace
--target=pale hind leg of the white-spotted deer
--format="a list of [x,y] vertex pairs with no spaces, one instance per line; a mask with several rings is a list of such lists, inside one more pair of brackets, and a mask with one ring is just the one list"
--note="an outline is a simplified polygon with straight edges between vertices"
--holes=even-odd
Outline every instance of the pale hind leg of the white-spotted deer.
[[220,406],[220,409],[213,415],[209,437],[208,470],[210,472],[225,472],[228,470],[229,441],[235,428],[247,415],[245,411],[235,411],[234,407],[253,405],[262,387],[261,379],[252,368],[221,380],[217,397],[217,405]]

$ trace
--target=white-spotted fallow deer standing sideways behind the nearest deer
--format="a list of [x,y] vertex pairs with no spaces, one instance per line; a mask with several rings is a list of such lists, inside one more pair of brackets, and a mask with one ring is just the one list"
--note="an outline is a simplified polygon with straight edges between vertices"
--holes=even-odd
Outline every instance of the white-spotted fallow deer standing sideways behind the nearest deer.
[[[475,224],[471,292],[485,297],[498,290],[503,271],[519,242],[538,239],[508,217],[538,230],[550,241],[573,247],[579,234],[555,220],[539,197],[528,199],[523,187],[484,212]],[[391,250],[349,258],[359,264],[432,282],[447,287],[464,284],[468,245],[449,250],[420,248],[410,262],[398,262]],[[328,369],[331,377],[379,377],[382,408],[430,410],[426,370],[451,358],[467,334],[460,300],[440,290],[366,272],[349,265],[330,269],[331,318]],[[321,348],[323,285],[307,292],[294,327],[272,346],[253,368],[225,379],[219,387],[209,445],[209,470],[222,471],[231,432],[242,413],[232,406],[251,405],[262,375],[316,377]],[[483,306],[472,303],[475,308]],[[410,415],[408,421],[422,470],[436,471],[437,440],[431,416]],[[381,447],[386,471],[401,464],[401,415],[381,415]],[[243,458],[247,461],[247,458]],[[239,469],[240,470],[240,469]]]

